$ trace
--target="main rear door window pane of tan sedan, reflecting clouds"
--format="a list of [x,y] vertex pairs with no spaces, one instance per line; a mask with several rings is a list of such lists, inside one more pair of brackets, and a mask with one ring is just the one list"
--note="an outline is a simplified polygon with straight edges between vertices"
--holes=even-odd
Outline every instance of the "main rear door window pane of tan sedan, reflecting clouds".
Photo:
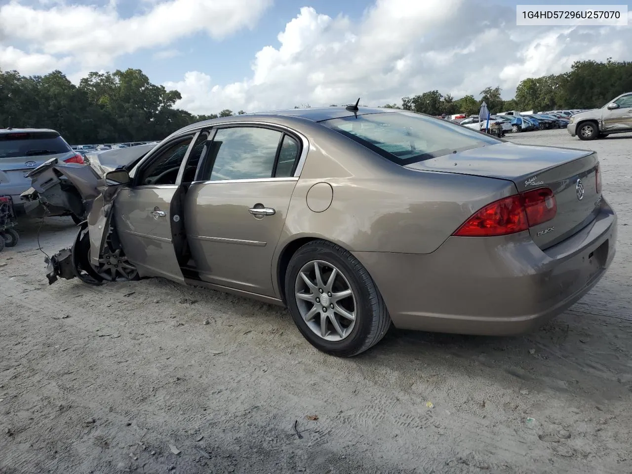
[[255,127],[217,130],[209,153],[213,163],[210,180],[271,178],[281,135]]

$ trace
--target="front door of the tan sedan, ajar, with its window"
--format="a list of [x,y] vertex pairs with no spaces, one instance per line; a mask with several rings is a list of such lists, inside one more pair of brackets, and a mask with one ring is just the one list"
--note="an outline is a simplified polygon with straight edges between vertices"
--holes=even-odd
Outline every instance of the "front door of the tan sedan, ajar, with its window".
[[184,281],[180,183],[195,136],[176,137],[154,150],[133,169],[131,185],[114,200],[116,235],[142,276]]

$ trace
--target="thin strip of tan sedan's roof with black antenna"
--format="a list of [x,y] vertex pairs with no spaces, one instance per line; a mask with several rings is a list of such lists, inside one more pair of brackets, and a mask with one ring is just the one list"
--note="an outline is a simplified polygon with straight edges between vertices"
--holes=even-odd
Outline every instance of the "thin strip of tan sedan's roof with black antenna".
[[312,122],[321,122],[324,120],[334,118],[353,117],[358,115],[367,114],[381,114],[385,112],[404,112],[401,109],[386,109],[382,107],[358,107],[358,111],[349,111],[346,107],[310,107],[307,109],[286,109],[267,112],[252,112],[249,114],[231,115],[229,117],[220,117],[216,119],[204,120],[201,122],[191,123],[178,131],[175,131],[170,136],[178,135],[187,130],[194,130],[196,128],[202,128],[204,126],[219,125],[224,122],[235,121],[266,121],[266,119],[272,118],[298,118],[303,120],[309,120]]

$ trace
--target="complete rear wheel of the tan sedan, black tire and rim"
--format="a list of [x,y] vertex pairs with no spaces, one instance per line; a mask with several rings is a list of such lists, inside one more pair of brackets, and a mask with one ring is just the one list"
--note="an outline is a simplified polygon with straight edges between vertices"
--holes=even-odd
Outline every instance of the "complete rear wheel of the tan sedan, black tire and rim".
[[367,269],[351,253],[325,240],[307,243],[292,256],[285,294],[303,337],[329,355],[358,355],[377,344],[391,327],[382,295]]

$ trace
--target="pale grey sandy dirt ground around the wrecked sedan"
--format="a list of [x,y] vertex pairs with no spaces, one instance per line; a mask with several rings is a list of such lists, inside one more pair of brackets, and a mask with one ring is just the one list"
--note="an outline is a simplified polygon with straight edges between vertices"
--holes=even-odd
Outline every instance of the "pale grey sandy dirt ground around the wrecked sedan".
[[[250,300],[48,286],[22,222],[0,253],[0,472],[632,473],[632,137],[508,138],[597,150],[619,214],[606,276],[521,337],[392,331],[339,360]],[[46,219],[40,243],[74,234]]]

